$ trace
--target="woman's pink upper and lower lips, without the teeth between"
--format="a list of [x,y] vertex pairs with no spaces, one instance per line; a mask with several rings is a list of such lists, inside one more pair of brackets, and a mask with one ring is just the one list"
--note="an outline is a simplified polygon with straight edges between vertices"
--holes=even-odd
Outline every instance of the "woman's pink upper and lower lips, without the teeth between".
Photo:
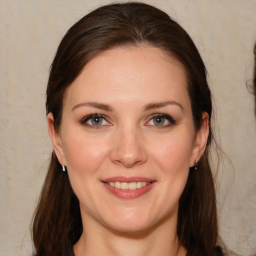
[[[151,182],[150,184],[143,186],[139,189],[134,189],[134,190],[129,190],[129,189],[118,189],[115,188],[114,186],[109,186],[105,182],[137,182],[137,181],[146,181],[146,182]],[[106,178],[102,180],[102,184],[104,187],[112,194],[115,196],[122,198],[122,199],[134,199],[137,197],[142,196],[143,194],[146,194],[149,192],[154,184],[156,183],[155,180],[149,179],[149,178],[144,178],[144,177],[123,177],[123,176],[116,176],[116,177],[111,177],[111,178]]]

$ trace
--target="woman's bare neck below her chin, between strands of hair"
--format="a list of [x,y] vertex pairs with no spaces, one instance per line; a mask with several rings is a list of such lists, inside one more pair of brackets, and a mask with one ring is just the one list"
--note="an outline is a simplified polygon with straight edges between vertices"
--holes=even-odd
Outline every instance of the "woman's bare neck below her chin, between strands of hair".
[[185,256],[185,249],[176,236],[176,221],[162,220],[156,226],[139,232],[118,232],[105,228],[94,219],[74,245],[75,256]]

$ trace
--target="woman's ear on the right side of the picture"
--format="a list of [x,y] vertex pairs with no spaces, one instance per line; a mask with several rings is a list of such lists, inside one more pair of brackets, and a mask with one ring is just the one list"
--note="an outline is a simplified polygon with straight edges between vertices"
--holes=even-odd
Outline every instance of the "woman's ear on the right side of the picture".
[[196,132],[191,158],[190,158],[190,167],[194,165],[195,161],[199,161],[200,157],[202,156],[206,143],[207,138],[209,135],[209,115],[207,112],[202,112],[202,124],[200,129]]

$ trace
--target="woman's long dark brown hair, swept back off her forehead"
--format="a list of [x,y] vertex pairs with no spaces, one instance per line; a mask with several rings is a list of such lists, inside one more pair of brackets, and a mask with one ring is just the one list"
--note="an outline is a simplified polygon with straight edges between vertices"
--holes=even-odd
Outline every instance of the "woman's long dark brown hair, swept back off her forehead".
[[[215,190],[208,160],[212,137],[211,93],[202,59],[185,30],[165,12],[138,2],[109,4],[76,22],[61,40],[50,67],[46,113],[61,124],[62,98],[67,86],[99,52],[115,46],[150,45],[161,48],[185,69],[196,130],[201,113],[209,115],[207,148],[196,171],[189,172],[180,197],[177,236],[187,255],[215,255],[219,247]],[[66,172],[52,152],[48,172],[34,214],[32,237],[36,255],[64,255],[82,233],[79,202]]]

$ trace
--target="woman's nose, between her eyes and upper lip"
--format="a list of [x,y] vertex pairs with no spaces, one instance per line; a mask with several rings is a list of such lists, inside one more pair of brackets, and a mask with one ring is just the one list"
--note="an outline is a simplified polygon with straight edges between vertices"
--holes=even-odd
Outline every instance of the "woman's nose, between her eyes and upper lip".
[[133,167],[147,160],[143,135],[135,127],[119,127],[113,135],[110,153],[112,162],[125,167]]

